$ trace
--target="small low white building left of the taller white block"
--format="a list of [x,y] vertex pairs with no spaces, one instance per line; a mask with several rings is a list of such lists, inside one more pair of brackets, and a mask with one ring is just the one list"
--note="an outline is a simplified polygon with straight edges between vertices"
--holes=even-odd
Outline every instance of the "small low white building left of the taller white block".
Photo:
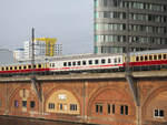
[[16,61],[22,61],[24,60],[24,50],[23,49],[17,49],[13,51],[13,58]]

